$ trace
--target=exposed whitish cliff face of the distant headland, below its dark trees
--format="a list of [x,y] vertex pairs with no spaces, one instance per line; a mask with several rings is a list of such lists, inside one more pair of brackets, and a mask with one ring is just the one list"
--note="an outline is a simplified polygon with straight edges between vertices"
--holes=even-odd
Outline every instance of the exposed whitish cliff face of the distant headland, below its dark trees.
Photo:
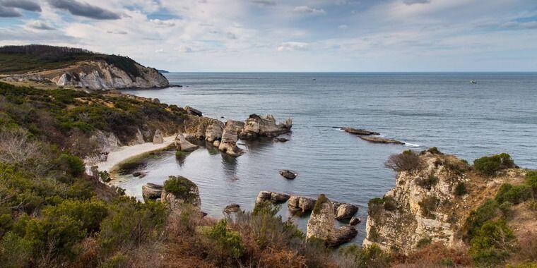
[[[42,78],[59,86],[83,87],[89,90],[111,90],[129,87],[167,87],[168,80],[154,68],[132,64],[132,70],[95,59],[80,61],[64,68],[28,74],[28,79]],[[18,78],[23,79],[23,78]]]

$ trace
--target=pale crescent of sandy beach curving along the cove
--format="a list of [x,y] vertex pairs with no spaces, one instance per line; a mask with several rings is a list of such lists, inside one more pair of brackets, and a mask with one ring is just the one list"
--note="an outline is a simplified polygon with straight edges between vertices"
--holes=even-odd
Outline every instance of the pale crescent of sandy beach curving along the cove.
[[122,146],[119,147],[118,150],[110,152],[106,161],[98,162],[96,166],[98,166],[99,171],[107,171],[108,173],[111,173],[110,171],[112,171],[115,166],[121,164],[125,160],[148,152],[163,150],[167,147],[170,147],[173,142],[175,142],[175,135],[165,137],[163,143],[145,142],[139,145]]

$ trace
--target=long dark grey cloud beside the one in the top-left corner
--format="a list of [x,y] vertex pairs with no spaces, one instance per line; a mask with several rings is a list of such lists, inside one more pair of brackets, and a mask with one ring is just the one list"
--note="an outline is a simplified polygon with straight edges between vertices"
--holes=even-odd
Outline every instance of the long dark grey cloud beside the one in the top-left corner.
[[54,8],[69,11],[69,13],[75,16],[93,18],[95,20],[118,20],[121,18],[117,13],[76,0],[48,0],[48,2]]

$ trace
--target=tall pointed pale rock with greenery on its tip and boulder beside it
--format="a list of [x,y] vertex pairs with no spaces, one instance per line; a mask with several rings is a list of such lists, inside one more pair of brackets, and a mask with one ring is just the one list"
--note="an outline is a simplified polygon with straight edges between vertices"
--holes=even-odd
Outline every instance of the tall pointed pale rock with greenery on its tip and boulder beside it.
[[307,221],[306,237],[322,239],[329,247],[341,245],[352,240],[358,234],[358,231],[353,226],[343,226],[340,229],[336,229],[334,210],[334,203],[326,196],[319,195],[312,215]]

